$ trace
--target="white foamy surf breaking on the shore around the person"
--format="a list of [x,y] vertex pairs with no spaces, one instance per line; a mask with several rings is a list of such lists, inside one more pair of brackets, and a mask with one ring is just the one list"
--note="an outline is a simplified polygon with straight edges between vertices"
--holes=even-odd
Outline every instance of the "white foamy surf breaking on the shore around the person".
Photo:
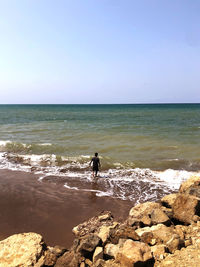
[[[33,154],[38,147],[49,149],[50,143],[27,145],[0,142],[0,168],[32,172],[39,176],[41,183],[56,183],[66,190],[85,192],[97,197],[113,197],[123,200],[155,201],[165,194],[178,190],[180,184],[199,171],[173,168],[179,159],[171,159],[171,168],[137,167],[137,164],[112,162],[101,158],[103,168],[94,179],[89,167],[90,156],[60,156],[55,154]],[[40,150],[40,149],[39,149]],[[198,170],[198,168],[197,168]]]

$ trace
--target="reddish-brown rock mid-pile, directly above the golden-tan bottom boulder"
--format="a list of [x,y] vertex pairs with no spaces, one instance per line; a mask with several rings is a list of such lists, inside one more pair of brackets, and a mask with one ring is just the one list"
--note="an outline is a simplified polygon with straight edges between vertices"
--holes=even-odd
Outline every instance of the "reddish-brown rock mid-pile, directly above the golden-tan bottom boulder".
[[125,224],[118,225],[118,227],[113,228],[110,231],[111,243],[117,244],[121,238],[133,239],[136,241],[140,240],[135,230],[131,226]]

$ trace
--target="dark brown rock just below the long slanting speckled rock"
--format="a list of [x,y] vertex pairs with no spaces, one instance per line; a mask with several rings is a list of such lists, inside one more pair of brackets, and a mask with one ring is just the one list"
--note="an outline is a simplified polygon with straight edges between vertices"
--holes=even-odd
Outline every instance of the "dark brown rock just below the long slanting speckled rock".
[[95,234],[85,236],[80,240],[77,251],[84,255],[86,252],[92,252],[99,245],[100,238]]

